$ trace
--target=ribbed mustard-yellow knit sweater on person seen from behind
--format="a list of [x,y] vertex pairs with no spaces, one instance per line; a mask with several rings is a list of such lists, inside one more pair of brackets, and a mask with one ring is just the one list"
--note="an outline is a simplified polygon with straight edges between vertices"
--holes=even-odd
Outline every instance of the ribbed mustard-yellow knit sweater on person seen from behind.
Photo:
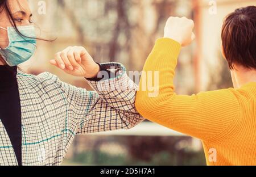
[[[155,123],[199,138],[208,165],[256,165],[256,82],[239,89],[177,95],[174,74],[180,49],[174,40],[156,41],[137,93],[135,104],[139,113]],[[142,87],[148,71],[159,71],[159,94],[155,97]],[[154,79],[153,82],[157,83]]]

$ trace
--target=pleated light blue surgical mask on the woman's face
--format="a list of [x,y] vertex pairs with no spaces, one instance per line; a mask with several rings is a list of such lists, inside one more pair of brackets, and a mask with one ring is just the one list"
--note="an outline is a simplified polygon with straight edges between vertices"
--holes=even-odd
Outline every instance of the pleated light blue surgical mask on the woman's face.
[[[5,29],[2,27],[0,28]],[[19,33],[15,31],[14,27],[8,27],[5,29],[8,32],[9,46],[5,48],[7,56],[6,54],[2,54],[2,56],[9,66],[17,66],[29,60],[36,50],[35,27],[19,26],[17,28],[24,36],[19,35]],[[3,51],[0,49],[0,54],[2,52]]]

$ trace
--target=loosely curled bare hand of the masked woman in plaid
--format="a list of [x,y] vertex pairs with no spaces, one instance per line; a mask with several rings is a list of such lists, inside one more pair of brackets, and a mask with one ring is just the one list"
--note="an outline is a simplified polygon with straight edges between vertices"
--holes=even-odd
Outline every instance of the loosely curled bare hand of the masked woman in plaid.
[[84,47],[68,47],[55,54],[55,60],[50,63],[65,73],[85,78],[97,77],[100,66]]

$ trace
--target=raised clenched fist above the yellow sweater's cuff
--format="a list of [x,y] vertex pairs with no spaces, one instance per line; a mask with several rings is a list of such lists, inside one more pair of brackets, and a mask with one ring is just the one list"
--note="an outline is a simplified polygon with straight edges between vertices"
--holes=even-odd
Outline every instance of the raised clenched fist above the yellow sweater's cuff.
[[195,39],[193,28],[195,24],[193,20],[185,17],[170,17],[164,28],[164,37],[171,38],[179,42],[183,47],[192,43]]

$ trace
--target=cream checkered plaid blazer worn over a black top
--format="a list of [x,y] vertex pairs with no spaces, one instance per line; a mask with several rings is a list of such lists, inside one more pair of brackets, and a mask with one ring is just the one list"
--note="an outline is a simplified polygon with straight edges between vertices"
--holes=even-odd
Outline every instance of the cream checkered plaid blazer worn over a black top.
[[[130,129],[144,120],[134,106],[137,86],[125,67],[102,66],[119,69],[120,75],[88,81],[96,91],[68,85],[50,73],[35,76],[18,70],[23,165],[60,165],[76,134]],[[0,133],[0,165],[18,165],[1,120]]]

